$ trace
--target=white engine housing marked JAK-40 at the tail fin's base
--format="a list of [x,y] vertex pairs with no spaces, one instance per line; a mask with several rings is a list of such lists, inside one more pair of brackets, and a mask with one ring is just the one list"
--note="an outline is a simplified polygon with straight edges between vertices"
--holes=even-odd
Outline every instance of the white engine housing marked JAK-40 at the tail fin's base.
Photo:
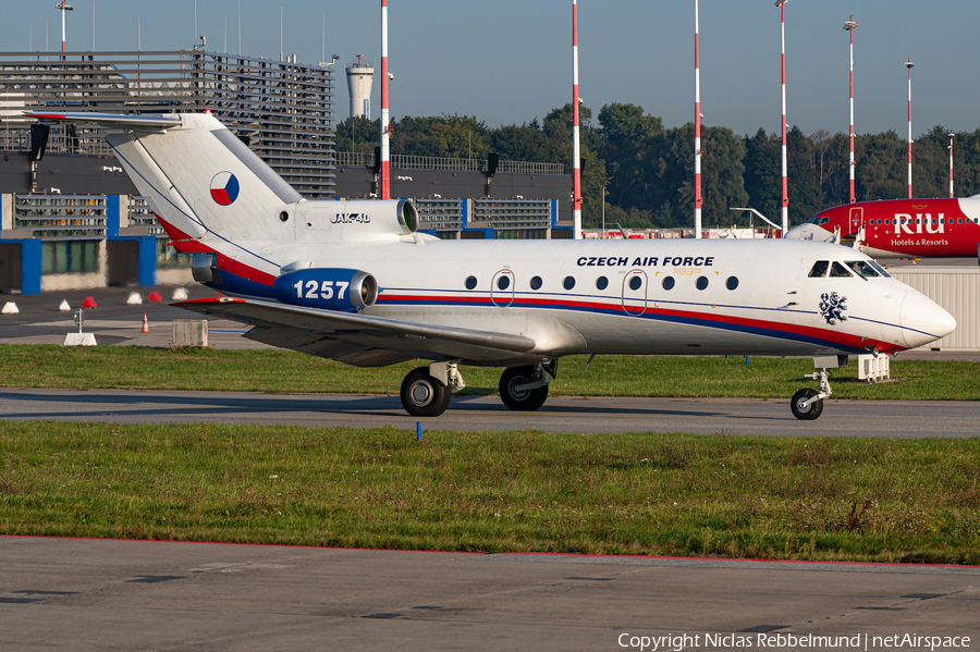
[[296,205],[299,239],[369,242],[415,233],[418,209],[412,199],[309,200]]

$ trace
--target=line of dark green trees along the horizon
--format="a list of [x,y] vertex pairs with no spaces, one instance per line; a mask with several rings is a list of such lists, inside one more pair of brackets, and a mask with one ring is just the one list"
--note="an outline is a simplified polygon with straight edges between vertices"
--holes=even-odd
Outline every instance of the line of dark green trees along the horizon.
[[[694,123],[665,128],[642,107],[602,107],[597,121],[580,111],[583,223],[601,220],[635,229],[690,226],[694,220]],[[391,151],[401,155],[561,163],[572,173],[572,104],[543,120],[488,127],[473,116],[405,116],[392,121]],[[380,120],[347,119],[336,125],[338,150],[372,151]],[[912,194],[948,197],[948,130],[935,126],[912,145]],[[760,128],[739,136],[728,127],[701,127],[702,224],[730,226],[732,207],[751,207],[779,223],[782,201],[782,136]],[[908,145],[894,131],[855,136],[857,201],[907,196]],[[799,224],[832,206],[847,204],[849,137],[820,130],[786,135],[789,223]],[[980,194],[980,128],[954,138],[957,197]],[[744,223],[745,220],[742,220]]]

